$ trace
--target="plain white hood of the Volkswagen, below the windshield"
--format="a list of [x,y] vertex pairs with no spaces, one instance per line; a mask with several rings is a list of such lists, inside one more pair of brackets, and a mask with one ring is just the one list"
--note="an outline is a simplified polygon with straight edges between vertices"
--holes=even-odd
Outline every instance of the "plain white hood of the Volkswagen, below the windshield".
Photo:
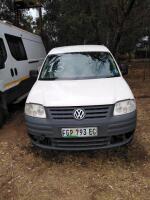
[[27,103],[45,107],[87,106],[114,104],[133,99],[133,94],[123,77],[87,80],[38,80]]

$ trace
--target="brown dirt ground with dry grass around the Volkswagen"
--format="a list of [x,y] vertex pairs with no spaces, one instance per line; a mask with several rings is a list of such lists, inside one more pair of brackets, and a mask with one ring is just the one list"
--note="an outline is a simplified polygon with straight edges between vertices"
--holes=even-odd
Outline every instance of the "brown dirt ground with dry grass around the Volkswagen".
[[149,200],[150,64],[131,64],[138,123],[128,148],[45,152],[26,134],[23,103],[0,130],[0,200]]

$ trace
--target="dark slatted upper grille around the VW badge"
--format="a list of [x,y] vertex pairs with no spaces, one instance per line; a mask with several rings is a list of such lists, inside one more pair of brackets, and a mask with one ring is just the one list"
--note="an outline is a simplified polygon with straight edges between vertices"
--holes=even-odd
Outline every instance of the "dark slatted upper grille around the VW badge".
[[51,119],[72,120],[74,119],[73,113],[77,108],[81,108],[85,111],[85,119],[100,119],[110,116],[112,106],[50,107],[47,109]]

